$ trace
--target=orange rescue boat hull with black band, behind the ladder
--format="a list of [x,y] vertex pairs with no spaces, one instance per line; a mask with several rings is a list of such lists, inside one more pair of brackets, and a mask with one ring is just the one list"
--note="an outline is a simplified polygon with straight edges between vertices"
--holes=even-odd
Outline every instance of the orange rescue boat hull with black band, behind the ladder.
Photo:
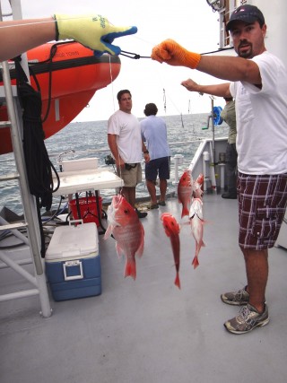
[[[45,138],[69,124],[94,93],[114,81],[120,71],[118,57],[95,57],[91,49],[74,41],[41,45],[28,51],[27,57],[30,84],[41,94]],[[14,85],[14,68],[10,76]],[[0,121],[8,119],[6,106],[0,105]],[[4,127],[0,129],[0,154],[7,152],[13,152],[13,146],[10,128]]]

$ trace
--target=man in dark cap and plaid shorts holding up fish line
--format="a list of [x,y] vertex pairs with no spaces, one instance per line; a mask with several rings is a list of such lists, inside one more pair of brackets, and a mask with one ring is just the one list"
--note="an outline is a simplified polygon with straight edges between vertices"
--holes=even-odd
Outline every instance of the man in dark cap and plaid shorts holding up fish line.
[[[248,284],[222,294],[222,301],[242,305],[239,315],[225,322],[233,334],[244,334],[269,322],[265,303],[268,248],[274,247],[287,204],[287,70],[265,48],[266,24],[254,5],[240,5],[230,16],[230,31],[238,57],[201,56],[173,40],[152,49],[152,59],[187,66],[227,83],[182,85],[236,105],[238,151],[239,247]],[[231,82],[231,83],[230,83]]]

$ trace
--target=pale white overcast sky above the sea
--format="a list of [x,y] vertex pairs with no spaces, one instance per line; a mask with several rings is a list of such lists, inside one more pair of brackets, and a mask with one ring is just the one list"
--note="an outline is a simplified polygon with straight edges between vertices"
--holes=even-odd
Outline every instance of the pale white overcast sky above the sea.
[[[8,4],[8,0],[7,4]],[[5,0],[2,0],[3,12]],[[189,50],[204,53],[218,48],[218,13],[205,0],[22,0],[23,18],[48,16],[53,13],[100,13],[114,25],[135,25],[133,36],[116,39],[121,49],[140,56],[150,56],[152,47],[163,39],[175,39]],[[146,103],[154,102],[159,116],[164,116],[163,89],[166,95],[166,114],[208,113],[210,99],[188,92],[180,85],[188,77],[198,83],[215,83],[212,77],[187,68],[170,67],[149,58],[133,60],[121,56],[121,71],[107,88],[97,91],[89,108],[76,121],[108,119],[118,109],[117,91],[129,89],[133,95],[133,113],[143,117]],[[214,105],[224,105],[221,99]]]

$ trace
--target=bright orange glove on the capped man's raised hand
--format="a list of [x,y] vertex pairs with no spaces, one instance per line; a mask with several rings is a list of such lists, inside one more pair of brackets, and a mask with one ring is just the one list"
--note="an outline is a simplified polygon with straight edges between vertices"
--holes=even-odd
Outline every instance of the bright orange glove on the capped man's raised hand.
[[187,66],[196,69],[201,56],[198,53],[189,52],[181,47],[173,39],[166,39],[161,44],[152,48],[152,60],[167,63],[174,66]]

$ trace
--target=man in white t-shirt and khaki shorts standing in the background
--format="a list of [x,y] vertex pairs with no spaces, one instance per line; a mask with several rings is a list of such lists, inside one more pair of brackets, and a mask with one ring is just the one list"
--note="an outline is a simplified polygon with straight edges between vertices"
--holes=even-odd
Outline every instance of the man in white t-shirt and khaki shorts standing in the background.
[[[150,161],[150,157],[142,142],[140,123],[132,114],[131,92],[126,89],[118,91],[117,100],[119,109],[108,121],[109,149],[116,161],[117,174],[124,180],[122,194],[135,207],[135,187],[142,181],[142,152],[144,161]],[[135,210],[139,218],[147,215]]]

